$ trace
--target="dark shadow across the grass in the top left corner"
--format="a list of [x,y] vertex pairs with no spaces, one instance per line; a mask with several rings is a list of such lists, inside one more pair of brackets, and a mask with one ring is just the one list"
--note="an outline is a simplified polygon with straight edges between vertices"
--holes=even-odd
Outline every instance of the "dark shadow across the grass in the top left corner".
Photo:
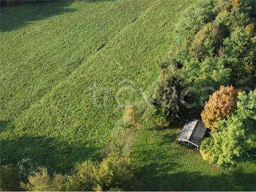
[[34,20],[42,20],[74,9],[66,8],[72,1],[44,1],[1,8],[1,32],[22,28]]

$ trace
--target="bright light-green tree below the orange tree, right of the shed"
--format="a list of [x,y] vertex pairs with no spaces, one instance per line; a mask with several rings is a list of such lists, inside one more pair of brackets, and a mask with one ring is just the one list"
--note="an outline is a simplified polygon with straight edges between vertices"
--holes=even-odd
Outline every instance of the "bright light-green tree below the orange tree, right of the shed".
[[252,125],[252,120],[243,120],[239,115],[221,121],[221,131],[212,133],[214,145],[209,152],[210,162],[220,166],[239,162],[250,150],[249,127]]

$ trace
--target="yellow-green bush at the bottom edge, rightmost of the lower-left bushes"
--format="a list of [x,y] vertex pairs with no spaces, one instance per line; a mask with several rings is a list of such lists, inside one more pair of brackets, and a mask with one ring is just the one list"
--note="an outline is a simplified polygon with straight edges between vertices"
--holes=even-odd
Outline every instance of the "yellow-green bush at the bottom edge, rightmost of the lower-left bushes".
[[101,163],[85,161],[76,166],[76,173],[68,177],[68,191],[109,191],[134,186],[135,166],[129,157],[109,156]]

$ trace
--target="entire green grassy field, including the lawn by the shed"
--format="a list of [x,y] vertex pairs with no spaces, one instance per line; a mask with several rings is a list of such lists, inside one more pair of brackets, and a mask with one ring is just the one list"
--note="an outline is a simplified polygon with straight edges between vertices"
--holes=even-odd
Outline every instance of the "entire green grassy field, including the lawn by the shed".
[[[150,111],[172,29],[191,0],[56,1],[1,8],[1,161],[22,158],[58,172],[99,159],[124,104]],[[144,97],[143,97],[144,95]],[[150,112],[148,112],[150,113]],[[180,127],[149,115],[131,157],[141,190],[250,190],[255,162],[227,172],[179,145]]]

